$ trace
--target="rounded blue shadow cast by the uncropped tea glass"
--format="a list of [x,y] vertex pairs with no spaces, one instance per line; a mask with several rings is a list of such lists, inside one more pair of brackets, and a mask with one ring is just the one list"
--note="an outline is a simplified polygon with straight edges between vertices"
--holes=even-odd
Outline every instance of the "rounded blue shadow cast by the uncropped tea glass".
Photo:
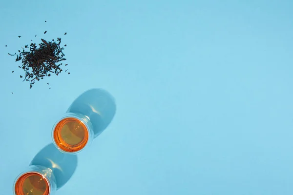
[[94,137],[97,137],[112,121],[116,113],[116,103],[113,96],[104,89],[90,89],[76,98],[67,112],[89,117]]

